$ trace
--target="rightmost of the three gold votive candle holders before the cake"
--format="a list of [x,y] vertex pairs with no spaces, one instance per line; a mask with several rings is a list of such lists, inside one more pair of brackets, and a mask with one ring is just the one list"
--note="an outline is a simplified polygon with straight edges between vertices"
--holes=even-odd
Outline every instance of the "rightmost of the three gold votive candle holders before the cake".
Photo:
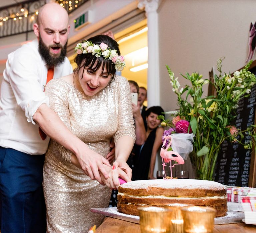
[[181,208],[185,233],[212,233],[216,209],[206,206]]

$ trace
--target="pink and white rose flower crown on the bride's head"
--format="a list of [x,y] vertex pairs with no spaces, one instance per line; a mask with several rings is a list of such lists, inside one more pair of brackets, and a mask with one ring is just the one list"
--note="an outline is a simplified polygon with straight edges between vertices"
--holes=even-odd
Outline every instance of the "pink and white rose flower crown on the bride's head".
[[115,49],[110,49],[105,43],[95,45],[91,41],[83,41],[78,43],[75,47],[75,53],[92,53],[97,58],[103,56],[105,59],[109,59],[115,64],[117,71],[122,71],[125,67],[125,61],[123,56],[119,56]]

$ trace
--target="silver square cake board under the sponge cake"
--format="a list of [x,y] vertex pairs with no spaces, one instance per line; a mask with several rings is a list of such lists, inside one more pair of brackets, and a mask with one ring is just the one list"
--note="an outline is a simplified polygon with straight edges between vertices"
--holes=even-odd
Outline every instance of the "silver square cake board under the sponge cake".
[[[121,219],[128,222],[133,222],[138,224],[140,223],[139,216],[123,214],[121,212],[118,212],[116,207],[92,208],[91,212],[102,214],[107,217]],[[214,224],[219,225],[219,224],[239,223],[239,222],[242,222],[243,218],[244,218],[244,212],[228,211],[227,215],[214,218]]]

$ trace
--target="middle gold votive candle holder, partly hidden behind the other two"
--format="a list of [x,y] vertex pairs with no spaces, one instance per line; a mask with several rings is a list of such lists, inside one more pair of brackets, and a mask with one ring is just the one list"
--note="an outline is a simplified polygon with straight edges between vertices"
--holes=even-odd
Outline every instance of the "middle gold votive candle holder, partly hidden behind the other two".
[[191,204],[172,203],[165,205],[165,208],[172,209],[172,218],[170,229],[172,233],[183,233],[183,216],[181,213],[182,207],[193,206]]

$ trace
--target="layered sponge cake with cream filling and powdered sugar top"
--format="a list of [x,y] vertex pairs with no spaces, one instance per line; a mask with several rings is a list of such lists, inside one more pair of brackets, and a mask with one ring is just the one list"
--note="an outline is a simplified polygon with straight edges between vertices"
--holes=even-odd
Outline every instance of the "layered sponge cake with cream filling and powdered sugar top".
[[226,187],[209,180],[157,179],[136,180],[118,188],[117,209],[125,214],[139,215],[140,206],[164,206],[171,203],[210,206],[216,217],[227,212]]

